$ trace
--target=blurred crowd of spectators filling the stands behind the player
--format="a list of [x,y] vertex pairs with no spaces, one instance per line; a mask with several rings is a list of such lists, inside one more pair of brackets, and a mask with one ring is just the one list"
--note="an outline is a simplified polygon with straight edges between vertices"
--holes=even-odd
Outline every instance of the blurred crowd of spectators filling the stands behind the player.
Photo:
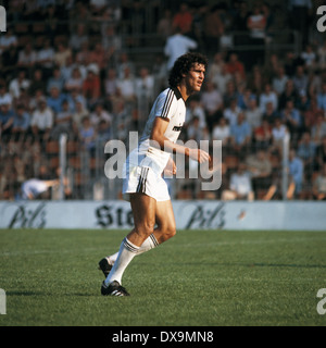
[[[288,137],[288,199],[325,199],[326,40],[308,35],[316,2],[298,8],[288,1],[287,13],[281,2],[212,2],[4,1],[0,199],[15,199],[29,178],[53,178],[53,147],[62,133],[76,174],[80,152],[91,160],[103,156],[110,139],[127,144],[167,87],[170,62],[188,50],[208,54],[210,67],[202,91],[187,104],[181,139],[222,140],[224,176],[213,192],[201,192],[197,181],[180,181],[176,198],[281,198]],[[287,21],[287,14],[301,21]],[[300,52],[267,50],[279,29],[302,34]],[[143,49],[150,34],[159,53],[153,50],[148,61],[129,53]],[[234,50],[237,45],[251,50]],[[71,197],[84,198],[76,192]]]

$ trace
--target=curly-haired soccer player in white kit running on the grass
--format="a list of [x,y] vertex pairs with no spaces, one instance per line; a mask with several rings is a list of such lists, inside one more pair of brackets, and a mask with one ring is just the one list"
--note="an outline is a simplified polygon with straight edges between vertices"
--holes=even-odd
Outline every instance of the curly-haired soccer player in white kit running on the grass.
[[171,198],[162,177],[165,167],[176,173],[171,154],[184,154],[199,163],[210,160],[209,153],[201,149],[176,144],[185,123],[185,102],[200,91],[206,66],[208,59],[200,53],[186,53],[176,60],[170,72],[170,87],[154,101],[138,147],[126,160],[123,195],[130,201],[135,227],[124,238],[117,253],[99,262],[106,277],[101,286],[104,296],[129,296],[122,286],[127,265],[135,256],[159,246],[176,233]]

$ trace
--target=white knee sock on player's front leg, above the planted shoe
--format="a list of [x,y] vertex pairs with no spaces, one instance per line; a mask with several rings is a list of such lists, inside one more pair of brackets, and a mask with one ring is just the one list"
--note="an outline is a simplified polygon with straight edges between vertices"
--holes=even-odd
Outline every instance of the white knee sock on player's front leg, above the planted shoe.
[[139,250],[139,247],[135,246],[127,238],[123,240],[118,250],[117,258],[114,262],[114,265],[111,272],[109,273],[106,279],[104,281],[104,284],[106,286],[113,281],[116,281],[120,284],[122,284],[123,273],[125,272],[125,269],[127,268],[127,265],[135,258],[138,250]]

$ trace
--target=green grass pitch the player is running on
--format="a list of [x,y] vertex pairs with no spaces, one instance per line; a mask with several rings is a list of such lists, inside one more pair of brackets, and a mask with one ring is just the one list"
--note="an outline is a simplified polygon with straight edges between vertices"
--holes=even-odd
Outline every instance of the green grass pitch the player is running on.
[[123,231],[0,231],[5,325],[325,325],[326,232],[180,231],[136,257],[126,298],[102,297],[98,261]]

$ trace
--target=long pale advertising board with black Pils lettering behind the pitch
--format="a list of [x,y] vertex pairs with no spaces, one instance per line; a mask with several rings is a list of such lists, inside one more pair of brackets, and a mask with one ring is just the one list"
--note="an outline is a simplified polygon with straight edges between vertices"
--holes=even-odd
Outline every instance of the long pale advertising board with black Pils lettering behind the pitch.
[[[178,229],[326,231],[326,202],[173,201]],[[0,228],[133,227],[126,201],[0,202]]]

